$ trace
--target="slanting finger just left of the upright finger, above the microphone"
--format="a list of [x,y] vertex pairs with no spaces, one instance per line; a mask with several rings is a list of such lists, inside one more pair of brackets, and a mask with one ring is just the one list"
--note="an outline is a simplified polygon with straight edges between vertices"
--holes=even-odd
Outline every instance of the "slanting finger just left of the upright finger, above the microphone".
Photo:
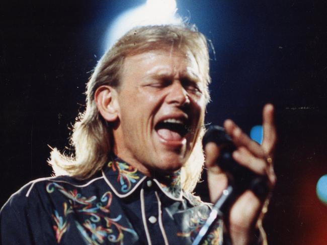
[[249,151],[259,158],[265,156],[262,147],[255,141],[251,140],[247,134],[244,134],[239,127],[230,119],[225,120],[224,127],[226,133],[232,138],[237,147],[246,147]]

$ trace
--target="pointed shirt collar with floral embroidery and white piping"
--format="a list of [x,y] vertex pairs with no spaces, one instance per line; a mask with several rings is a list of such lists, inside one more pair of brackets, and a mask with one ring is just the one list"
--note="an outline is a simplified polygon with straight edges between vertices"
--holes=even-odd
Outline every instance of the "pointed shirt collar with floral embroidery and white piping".
[[[118,197],[127,197],[148,177],[120,158],[113,158],[103,169],[103,177]],[[173,200],[182,200],[181,171],[162,178],[148,178]]]

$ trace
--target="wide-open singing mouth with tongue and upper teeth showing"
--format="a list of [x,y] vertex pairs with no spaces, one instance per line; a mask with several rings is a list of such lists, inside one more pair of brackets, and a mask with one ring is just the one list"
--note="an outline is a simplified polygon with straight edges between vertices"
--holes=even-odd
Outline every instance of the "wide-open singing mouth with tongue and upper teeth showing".
[[181,119],[168,118],[154,127],[157,134],[166,141],[182,141],[188,133],[189,125]]

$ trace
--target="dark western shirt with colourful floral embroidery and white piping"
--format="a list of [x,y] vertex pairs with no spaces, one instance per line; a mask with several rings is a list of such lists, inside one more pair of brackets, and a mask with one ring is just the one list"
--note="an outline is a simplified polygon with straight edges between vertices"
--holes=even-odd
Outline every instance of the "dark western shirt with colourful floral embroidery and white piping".
[[[191,244],[210,205],[181,189],[180,172],[160,181],[120,159],[87,180],[37,179],[0,213],[1,244]],[[218,221],[204,244],[222,243]]]

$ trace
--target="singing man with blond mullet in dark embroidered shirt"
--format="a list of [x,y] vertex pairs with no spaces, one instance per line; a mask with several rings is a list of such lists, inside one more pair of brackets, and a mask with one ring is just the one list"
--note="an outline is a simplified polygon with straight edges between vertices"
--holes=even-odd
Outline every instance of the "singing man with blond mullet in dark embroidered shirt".
[[[73,156],[53,149],[56,177],[32,181],[1,210],[2,244],[191,244],[211,205],[191,194],[204,163],[202,136],[209,101],[205,37],[184,25],[135,28],[97,64],[77,118]],[[231,121],[224,127],[234,160],[265,177],[215,222],[203,244],[261,244],[265,203],[275,184],[273,106],[263,112],[264,141]],[[226,186],[205,148],[212,202]]]

